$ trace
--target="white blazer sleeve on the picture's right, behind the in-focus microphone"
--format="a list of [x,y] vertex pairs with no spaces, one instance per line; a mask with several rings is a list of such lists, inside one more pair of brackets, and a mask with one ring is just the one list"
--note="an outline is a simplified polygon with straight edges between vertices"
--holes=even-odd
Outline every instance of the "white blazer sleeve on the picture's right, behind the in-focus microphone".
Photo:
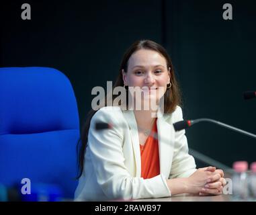
[[[183,120],[181,107],[175,110],[173,123]],[[169,178],[189,177],[196,171],[196,163],[194,157],[189,155],[187,146],[187,137],[185,130],[175,132],[175,148],[173,152],[173,163]]]

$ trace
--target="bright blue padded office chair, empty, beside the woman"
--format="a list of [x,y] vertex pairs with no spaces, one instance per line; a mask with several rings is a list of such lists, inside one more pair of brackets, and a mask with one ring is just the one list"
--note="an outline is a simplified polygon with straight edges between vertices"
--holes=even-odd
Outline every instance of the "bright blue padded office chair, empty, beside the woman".
[[44,67],[0,68],[0,184],[28,178],[56,185],[64,198],[77,186],[79,114],[69,79]]

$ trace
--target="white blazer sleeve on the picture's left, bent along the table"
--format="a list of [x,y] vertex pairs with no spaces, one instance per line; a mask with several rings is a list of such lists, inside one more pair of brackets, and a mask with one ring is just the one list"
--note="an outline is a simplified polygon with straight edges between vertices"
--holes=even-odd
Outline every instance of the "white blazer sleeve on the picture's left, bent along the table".
[[[120,125],[124,120],[122,120],[122,111],[114,108],[103,107],[97,111],[89,128],[88,149],[97,183],[110,199],[130,200],[171,196],[163,175],[143,179],[132,177],[128,172],[122,152],[124,130]],[[114,126],[109,130],[96,131],[94,127],[97,121],[108,122]]]

